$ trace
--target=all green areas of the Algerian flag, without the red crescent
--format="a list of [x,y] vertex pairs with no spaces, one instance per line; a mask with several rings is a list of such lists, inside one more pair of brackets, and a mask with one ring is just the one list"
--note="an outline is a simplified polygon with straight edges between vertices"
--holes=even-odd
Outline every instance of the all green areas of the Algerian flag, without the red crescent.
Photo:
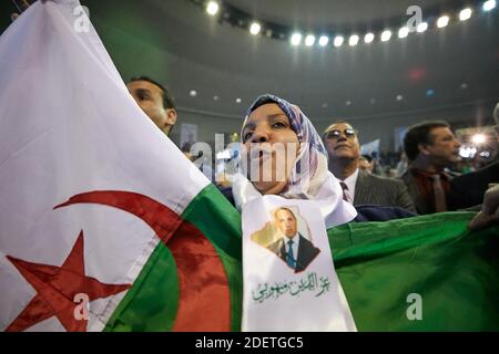
[[[328,230],[335,267],[359,331],[499,331],[499,227],[467,230],[472,212]],[[241,330],[241,215],[212,185],[182,214],[213,243],[231,289],[231,329]],[[160,243],[106,331],[167,331],[179,300],[176,268]],[[174,291],[167,291],[174,289]],[[422,320],[409,321],[409,294]],[[203,314],[200,313],[200,316]]]

